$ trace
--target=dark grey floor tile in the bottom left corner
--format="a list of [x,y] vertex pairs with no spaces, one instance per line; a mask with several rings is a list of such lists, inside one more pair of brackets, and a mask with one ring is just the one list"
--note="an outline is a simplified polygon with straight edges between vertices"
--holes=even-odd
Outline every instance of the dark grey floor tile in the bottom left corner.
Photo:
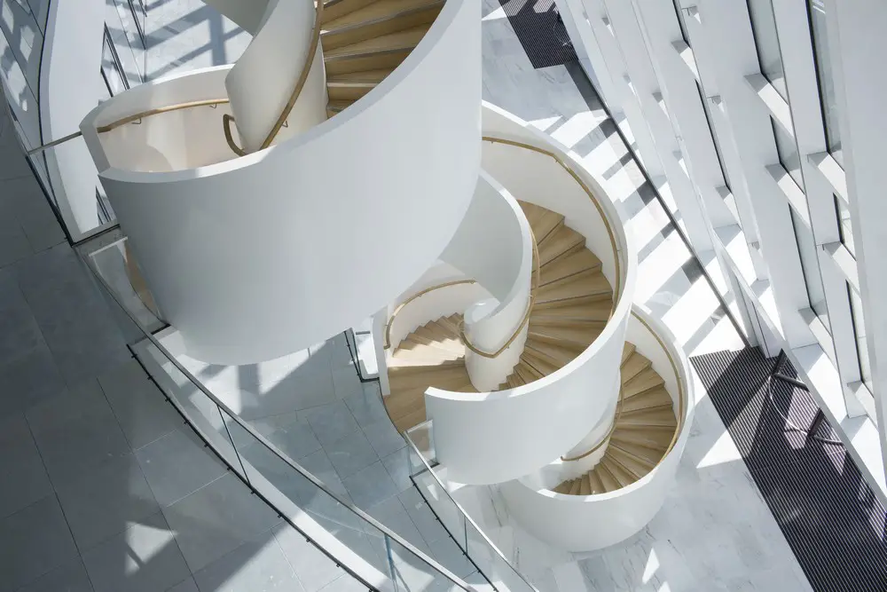
[[0,584],[16,589],[77,555],[55,495],[0,520]]

